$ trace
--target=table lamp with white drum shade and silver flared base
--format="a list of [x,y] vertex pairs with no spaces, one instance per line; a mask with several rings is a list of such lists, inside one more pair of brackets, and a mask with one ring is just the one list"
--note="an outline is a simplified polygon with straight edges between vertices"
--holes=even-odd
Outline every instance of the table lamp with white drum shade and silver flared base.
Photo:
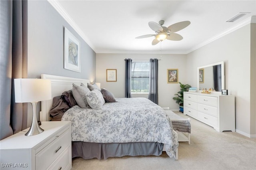
[[30,102],[33,108],[32,124],[26,136],[42,133],[36,118],[36,105],[39,101],[52,99],[51,81],[48,79],[14,79],[15,102]]

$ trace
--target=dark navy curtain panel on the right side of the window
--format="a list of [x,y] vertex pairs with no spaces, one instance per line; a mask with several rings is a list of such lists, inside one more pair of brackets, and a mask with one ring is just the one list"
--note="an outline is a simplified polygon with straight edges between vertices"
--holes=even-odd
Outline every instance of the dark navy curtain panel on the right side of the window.
[[148,99],[158,105],[158,59],[150,59]]

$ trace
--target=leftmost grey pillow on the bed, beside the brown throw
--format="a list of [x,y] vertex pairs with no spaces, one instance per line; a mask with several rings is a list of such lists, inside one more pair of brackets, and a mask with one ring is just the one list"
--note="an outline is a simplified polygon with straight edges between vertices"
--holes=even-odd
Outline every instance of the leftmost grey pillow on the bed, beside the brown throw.
[[73,83],[72,94],[74,96],[74,99],[76,100],[76,103],[81,108],[89,108],[89,105],[86,100],[86,93],[88,93],[88,92],[89,91],[87,91],[84,87],[75,85]]

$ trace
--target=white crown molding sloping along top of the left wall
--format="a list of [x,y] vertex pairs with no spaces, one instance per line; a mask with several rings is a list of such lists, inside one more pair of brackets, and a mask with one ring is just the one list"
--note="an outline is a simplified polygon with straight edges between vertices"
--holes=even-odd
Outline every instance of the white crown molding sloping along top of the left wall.
[[[62,6],[56,0],[48,0],[53,8],[70,24],[70,26],[77,32],[77,34],[92,48],[95,49],[94,45],[90,42],[89,38],[82,32],[78,25],[70,18],[68,13],[62,8]],[[95,50],[94,50],[95,51]]]

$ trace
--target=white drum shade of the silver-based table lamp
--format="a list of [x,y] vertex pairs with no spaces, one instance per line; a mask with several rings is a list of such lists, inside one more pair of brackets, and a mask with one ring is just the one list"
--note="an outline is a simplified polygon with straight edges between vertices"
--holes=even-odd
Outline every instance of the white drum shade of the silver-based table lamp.
[[16,103],[52,99],[51,81],[47,79],[14,79],[14,89]]

